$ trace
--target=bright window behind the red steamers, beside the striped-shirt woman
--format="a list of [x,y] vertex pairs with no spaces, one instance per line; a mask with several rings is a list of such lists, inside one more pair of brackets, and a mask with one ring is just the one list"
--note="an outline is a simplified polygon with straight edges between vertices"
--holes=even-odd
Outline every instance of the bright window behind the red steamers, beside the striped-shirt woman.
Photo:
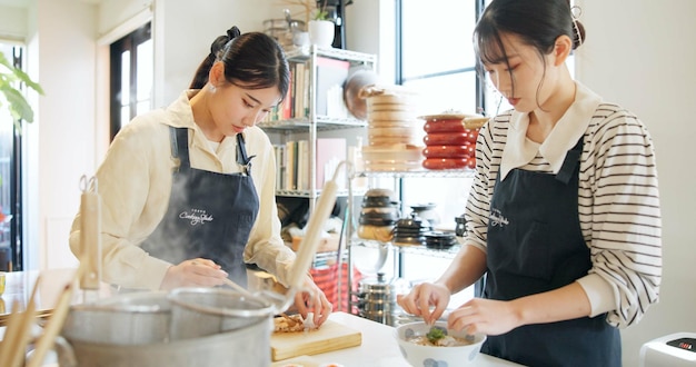
[[[396,83],[419,93],[419,110],[426,115],[481,112],[488,95],[476,70],[471,34],[485,0],[395,3]],[[443,225],[454,230],[455,217],[464,212],[470,186],[470,178],[407,179],[397,188],[405,204],[402,215],[408,215],[409,205],[434,202]]]

